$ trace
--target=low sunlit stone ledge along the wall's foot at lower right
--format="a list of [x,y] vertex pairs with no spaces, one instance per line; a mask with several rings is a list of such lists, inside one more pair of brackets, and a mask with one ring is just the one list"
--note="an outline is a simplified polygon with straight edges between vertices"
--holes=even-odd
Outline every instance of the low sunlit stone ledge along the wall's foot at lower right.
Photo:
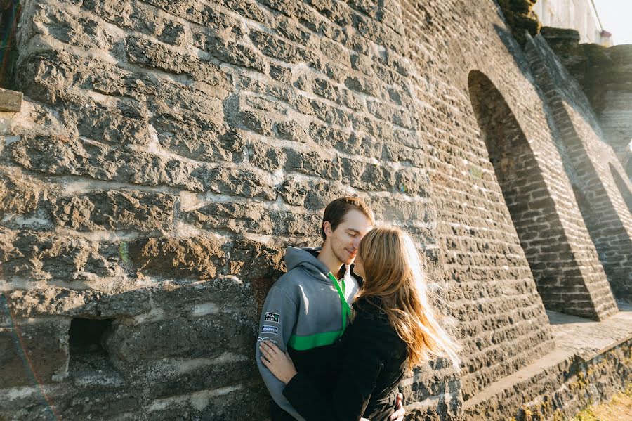
[[[468,399],[463,403],[463,420],[522,420],[527,411],[539,413],[542,420],[551,420],[560,413],[573,416],[588,399],[609,399],[616,391],[612,385],[617,379],[623,384],[626,373],[617,372],[614,366],[600,377],[591,373],[603,371],[595,368],[608,363],[609,358],[625,356],[632,346],[632,304],[617,304],[619,313],[602,322],[547,311],[555,349]],[[632,367],[626,367],[632,371]],[[526,396],[522,394],[525,390],[533,393]],[[558,394],[581,395],[583,399],[573,399],[572,408],[558,408],[557,402],[568,401],[552,399]]]

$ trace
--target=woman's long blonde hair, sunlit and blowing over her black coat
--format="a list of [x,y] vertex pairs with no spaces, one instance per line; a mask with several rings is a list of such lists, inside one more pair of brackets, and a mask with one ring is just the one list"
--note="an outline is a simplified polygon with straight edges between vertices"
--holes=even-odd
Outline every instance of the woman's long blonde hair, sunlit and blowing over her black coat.
[[447,356],[458,369],[459,347],[437,323],[428,303],[421,261],[409,235],[399,228],[374,228],[362,238],[358,255],[365,279],[357,298],[381,299],[381,310],[408,344],[408,367],[436,355]]

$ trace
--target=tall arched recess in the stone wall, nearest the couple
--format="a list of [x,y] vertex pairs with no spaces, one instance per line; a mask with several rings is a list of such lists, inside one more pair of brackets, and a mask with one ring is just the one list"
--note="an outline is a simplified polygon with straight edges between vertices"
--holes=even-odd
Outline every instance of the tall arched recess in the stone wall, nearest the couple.
[[468,86],[489,160],[544,306],[598,318],[555,202],[518,120],[487,76],[473,70]]

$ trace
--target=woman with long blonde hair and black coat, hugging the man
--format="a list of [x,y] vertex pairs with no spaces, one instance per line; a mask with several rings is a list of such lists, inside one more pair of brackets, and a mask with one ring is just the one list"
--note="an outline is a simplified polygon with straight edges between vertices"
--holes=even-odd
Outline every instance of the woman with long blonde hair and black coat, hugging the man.
[[320,390],[296,373],[294,364],[271,342],[262,342],[261,360],[286,384],[283,394],[305,420],[386,420],[395,389],[407,368],[430,355],[444,355],[458,370],[456,344],[435,320],[414,243],[398,228],[375,228],[364,236],[355,259],[364,278],[331,373],[331,389]]

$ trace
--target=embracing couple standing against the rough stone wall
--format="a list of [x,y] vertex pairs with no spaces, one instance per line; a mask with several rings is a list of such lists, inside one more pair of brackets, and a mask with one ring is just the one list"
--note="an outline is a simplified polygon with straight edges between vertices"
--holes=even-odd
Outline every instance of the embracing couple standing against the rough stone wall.
[[362,199],[341,197],[325,208],[322,247],[288,247],[256,346],[273,421],[402,420],[398,384],[407,370],[431,355],[459,365],[428,303],[414,243],[374,226]]

